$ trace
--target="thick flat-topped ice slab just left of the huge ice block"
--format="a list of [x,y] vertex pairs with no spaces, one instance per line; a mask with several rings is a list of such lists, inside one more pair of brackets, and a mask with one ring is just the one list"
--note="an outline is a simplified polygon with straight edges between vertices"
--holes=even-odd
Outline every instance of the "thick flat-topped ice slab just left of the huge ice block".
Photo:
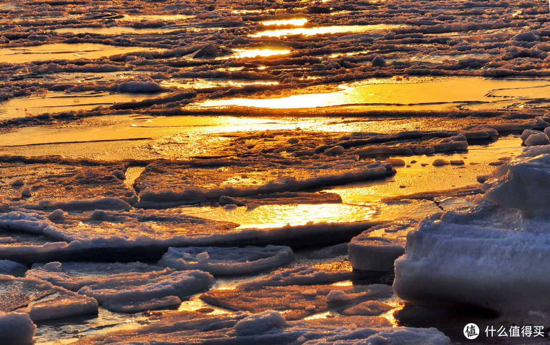
[[395,259],[405,254],[406,235],[417,225],[412,219],[395,220],[355,236],[348,244],[351,266],[354,270],[393,272]]

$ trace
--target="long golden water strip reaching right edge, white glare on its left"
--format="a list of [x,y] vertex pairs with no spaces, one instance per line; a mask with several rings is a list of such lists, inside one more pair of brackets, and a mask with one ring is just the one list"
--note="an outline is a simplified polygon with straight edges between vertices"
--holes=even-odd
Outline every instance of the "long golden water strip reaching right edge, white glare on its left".
[[[483,79],[479,77],[449,77],[423,82],[402,84],[370,84],[369,81],[340,86],[342,91],[330,93],[296,94],[283,98],[233,98],[206,101],[202,107],[240,105],[257,108],[315,108],[337,105],[363,105],[375,109],[404,109],[405,106],[418,109],[449,110],[463,103],[485,103],[486,108],[499,108],[499,101],[513,102],[513,97],[529,98],[540,96],[550,81]],[[538,88],[534,88],[538,87]],[[545,87],[545,88],[540,88]],[[493,90],[498,92],[492,92]],[[540,91],[536,92],[535,91]],[[525,96],[522,96],[525,95]],[[535,97],[538,98],[538,97]],[[397,108],[399,107],[399,108]]]

